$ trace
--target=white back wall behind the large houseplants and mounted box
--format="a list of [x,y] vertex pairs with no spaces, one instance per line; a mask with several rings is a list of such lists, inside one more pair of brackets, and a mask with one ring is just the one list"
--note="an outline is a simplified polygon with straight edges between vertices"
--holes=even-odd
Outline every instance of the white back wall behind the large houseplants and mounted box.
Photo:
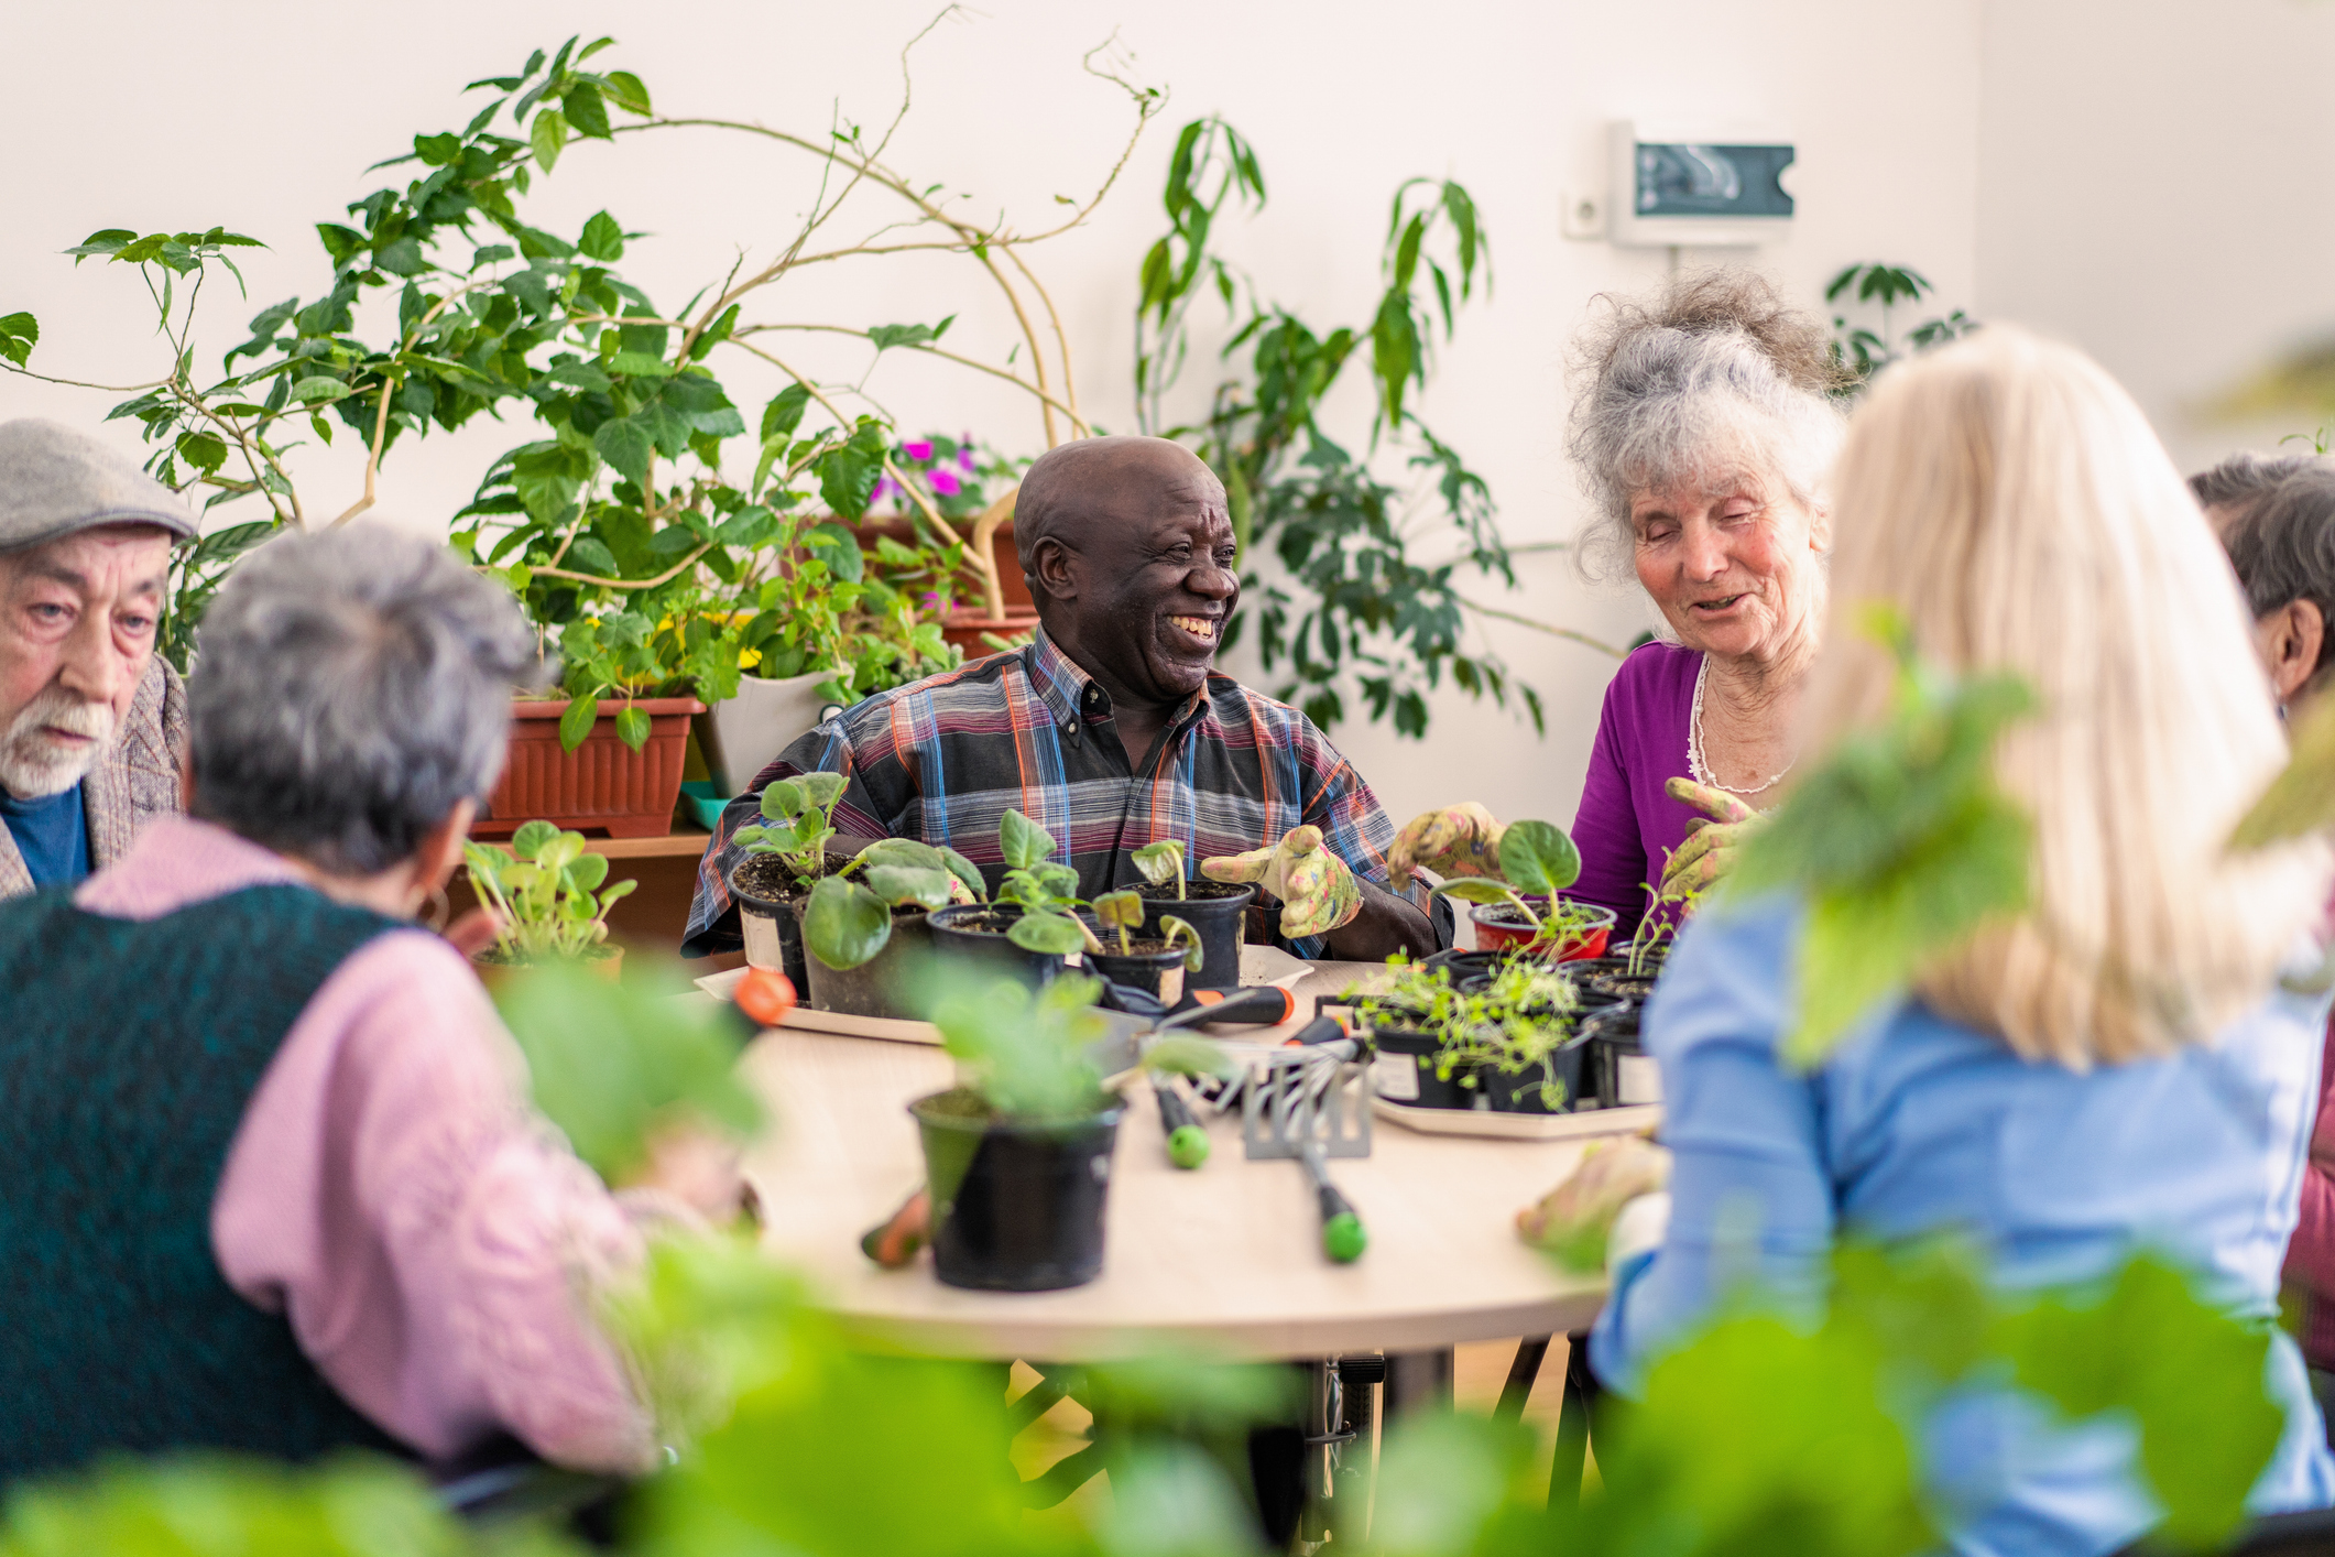
[[[1226,247],[1266,292],[1317,322],[1364,322],[1385,201],[1403,175],[1464,180],[1492,233],[1497,292],[1462,317],[1424,413],[1490,476],[1518,542],[1567,537],[1581,518],[1562,458],[1564,338],[1595,292],[1642,287],[1667,264],[1663,252],[1560,236],[1560,189],[1604,182],[1609,119],[1786,126],[1800,147],[1803,217],[1786,245],[1758,259],[1812,303],[1824,278],[1856,259],[1915,264],[1957,303],[1978,282],[1980,0],[1445,0],[1427,9],[990,0],[985,9],[941,26],[920,49],[918,105],[894,149],[904,170],[971,191],[976,210],[1002,205],[1030,229],[1055,210],[1053,194],[1081,194],[1109,166],[1123,100],[1079,72],[1079,54],[1114,26],[1135,70],[1175,93],[1093,226],[1032,254],[1074,336],[1083,404],[1107,425],[1132,423],[1132,275],[1160,229],[1158,187],[1184,119],[1221,112],[1256,142],[1273,203],[1235,224]],[[726,0],[668,9],[651,28],[637,7],[612,0],[325,12],[250,2],[189,30],[182,7],[152,2],[19,7],[9,51],[40,68],[12,72],[0,96],[0,145],[19,149],[5,175],[0,310],[40,315],[47,338],[35,366],[107,383],[147,378],[156,357],[133,278],[75,273],[56,252],[100,226],[224,222],[273,250],[248,264],[250,308],[205,301],[203,355],[215,362],[259,303],[320,289],[325,266],[308,224],[390,177],[364,175],[367,163],[404,149],[413,131],[460,126],[476,98],[455,89],[516,68],[537,42],[609,30],[621,40],[609,58],[642,75],[668,114],[820,128],[831,98],[862,121],[890,112],[892,54],[929,12],[927,0],[817,9]],[[574,147],[537,219],[574,229],[605,205],[626,226],[649,229],[656,236],[626,257],[626,271],[677,306],[722,278],[733,245],[768,254],[785,240],[808,189],[808,168],[792,154],[663,131]],[[848,324],[953,310],[962,322],[950,343],[1002,355],[1006,320],[962,261],[834,266],[789,280],[771,301],[773,315]],[[803,348],[803,357],[836,373],[857,373],[862,362],[848,350]],[[871,380],[906,425],[974,427],[1037,448],[1037,420],[1011,390],[922,366],[885,359]],[[1207,383],[1210,366],[1196,362],[1186,387],[1198,395]],[[0,416],[93,418],[105,404],[0,376]],[[523,437],[488,425],[397,451],[383,509],[441,523],[476,472]],[[318,507],[355,497],[346,444],[306,483]],[[1504,605],[1613,642],[1642,626],[1630,595],[1583,591],[1560,556],[1529,558],[1525,577]],[[1548,698],[1548,738],[1534,742],[1513,719],[1459,698],[1438,703],[1429,747],[1347,726],[1340,742],[1396,819],[1464,796],[1504,815],[1571,817],[1609,661],[1522,628],[1494,628],[1492,642]]]

